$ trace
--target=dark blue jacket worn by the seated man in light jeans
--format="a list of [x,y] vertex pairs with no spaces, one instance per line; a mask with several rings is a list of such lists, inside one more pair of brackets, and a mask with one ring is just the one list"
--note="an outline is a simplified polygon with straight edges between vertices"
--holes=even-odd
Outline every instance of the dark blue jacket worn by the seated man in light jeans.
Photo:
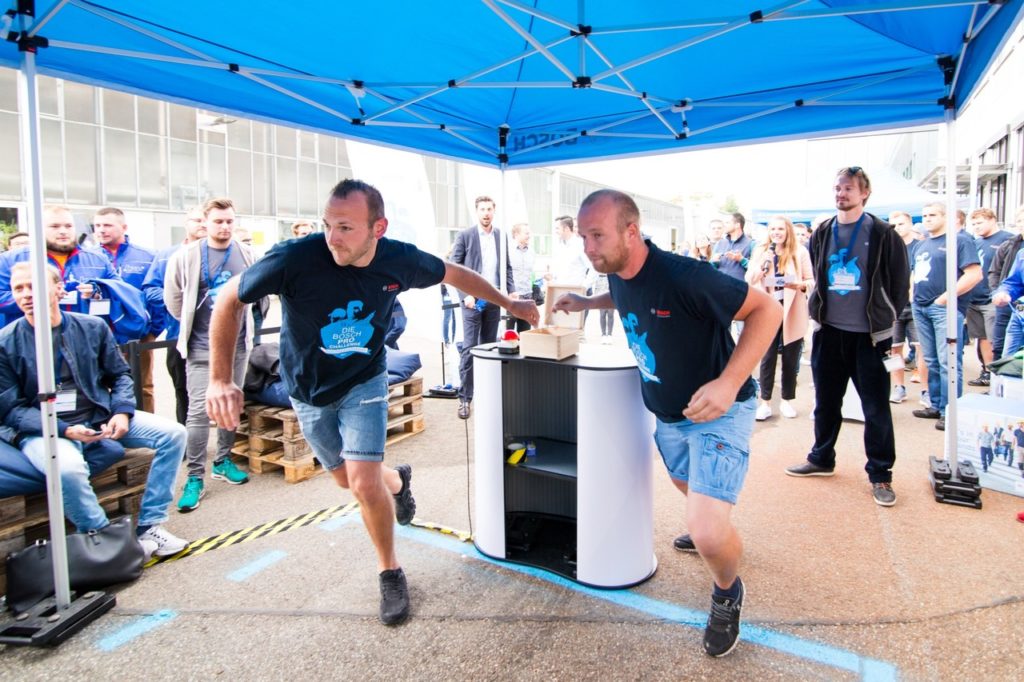
[[[61,312],[60,349],[75,383],[95,409],[97,422],[135,414],[135,386],[106,323],[92,315]],[[19,436],[43,432],[39,410],[36,330],[25,318],[0,330],[0,423]],[[57,433],[71,426],[57,416]]]

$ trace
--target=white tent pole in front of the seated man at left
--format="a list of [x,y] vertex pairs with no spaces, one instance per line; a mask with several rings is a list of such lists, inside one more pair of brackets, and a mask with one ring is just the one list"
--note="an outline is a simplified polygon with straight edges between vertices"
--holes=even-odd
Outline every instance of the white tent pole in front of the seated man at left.
[[[27,17],[22,15],[23,25]],[[53,378],[53,348],[46,272],[46,237],[43,233],[43,174],[39,150],[39,101],[36,85],[36,54],[22,52],[17,95],[22,126],[22,178],[29,198],[27,215],[32,248],[32,292],[35,310],[37,382],[39,411],[46,443],[46,502],[50,515],[50,553],[53,557],[53,585],[58,609],[71,606],[68,578],[68,544],[63,527],[63,494],[57,461],[56,385]]]

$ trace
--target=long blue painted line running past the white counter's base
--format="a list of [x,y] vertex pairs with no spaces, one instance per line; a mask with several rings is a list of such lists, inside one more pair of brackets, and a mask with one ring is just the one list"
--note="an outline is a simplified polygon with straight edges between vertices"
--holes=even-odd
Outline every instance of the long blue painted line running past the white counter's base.
[[[580,585],[567,578],[562,578],[543,568],[499,561],[481,554],[472,543],[460,542],[447,536],[439,536],[420,528],[403,526],[398,528],[398,535],[425,545],[465,554],[474,559],[501,566],[507,570],[530,576],[531,578],[585,594],[595,599],[600,599],[601,601],[637,610],[672,623],[678,623],[679,625],[702,629],[708,622],[708,613],[706,611],[698,611],[671,602],[652,599],[632,590],[598,590],[586,585]],[[786,635],[760,626],[744,625],[742,639],[753,644],[760,644],[761,646],[781,651],[782,653],[857,673],[863,680],[888,682],[896,680],[899,677],[898,669],[885,660],[868,658],[853,651],[801,639],[800,637]]]

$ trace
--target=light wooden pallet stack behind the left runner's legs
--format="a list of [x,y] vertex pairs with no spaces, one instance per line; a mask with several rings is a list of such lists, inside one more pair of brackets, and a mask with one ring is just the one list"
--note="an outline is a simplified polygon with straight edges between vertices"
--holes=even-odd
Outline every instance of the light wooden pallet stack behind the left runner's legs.
[[[323,471],[299,427],[298,415],[288,408],[247,402],[246,419],[236,431],[231,454],[262,474],[283,469],[285,480],[298,483]],[[414,377],[388,387],[387,445],[416,435],[423,421],[423,379]]]

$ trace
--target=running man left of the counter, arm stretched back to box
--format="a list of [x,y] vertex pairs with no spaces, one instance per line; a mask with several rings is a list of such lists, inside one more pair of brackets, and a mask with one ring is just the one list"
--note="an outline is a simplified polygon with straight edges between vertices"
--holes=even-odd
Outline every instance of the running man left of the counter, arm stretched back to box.
[[394,551],[394,520],[416,512],[412,469],[383,467],[388,387],[384,337],[398,294],[440,282],[497,303],[532,325],[531,300],[511,300],[483,278],[384,238],[384,200],[370,184],[344,180],[324,209],[324,232],[276,245],[224,285],[211,321],[207,410],[238,425],[242,390],[231,381],[233,340],[245,304],[281,297],[281,376],[316,459],[351,487],[377,550],[381,621],[409,615],[406,576]]

